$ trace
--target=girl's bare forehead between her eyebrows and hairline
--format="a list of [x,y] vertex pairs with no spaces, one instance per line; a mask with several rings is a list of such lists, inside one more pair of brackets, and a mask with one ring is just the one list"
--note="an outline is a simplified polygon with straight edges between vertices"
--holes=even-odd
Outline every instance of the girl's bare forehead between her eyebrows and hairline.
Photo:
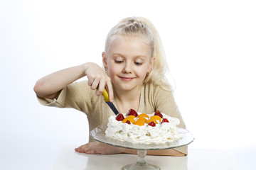
[[109,55],[121,54],[124,56],[150,56],[149,44],[139,37],[117,36],[111,42]]

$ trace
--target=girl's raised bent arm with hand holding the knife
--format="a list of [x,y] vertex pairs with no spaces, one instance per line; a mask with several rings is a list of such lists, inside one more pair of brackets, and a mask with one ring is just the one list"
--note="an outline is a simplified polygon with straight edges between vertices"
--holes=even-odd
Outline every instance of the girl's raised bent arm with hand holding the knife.
[[92,90],[99,86],[99,90],[96,91],[97,96],[100,96],[107,86],[110,99],[113,98],[110,77],[95,63],[85,63],[49,74],[36,82],[34,91],[39,97],[58,98],[60,91],[65,86],[85,76],[87,76],[88,85],[91,86]]

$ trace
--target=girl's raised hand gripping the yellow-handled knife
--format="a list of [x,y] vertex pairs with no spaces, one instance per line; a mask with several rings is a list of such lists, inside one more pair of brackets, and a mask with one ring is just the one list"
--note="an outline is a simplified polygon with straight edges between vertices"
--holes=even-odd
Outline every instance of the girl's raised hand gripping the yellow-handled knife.
[[96,95],[102,95],[105,86],[107,86],[107,92],[109,94],[110,101],[112,102],[114,99],[113,89],[111,84],[110,77],[103,71],[101,67],[99,67],[95,63],[86,63],[85,64],[85,75],[88,78],[88,85],[91,87],[92,90],[96,91]]

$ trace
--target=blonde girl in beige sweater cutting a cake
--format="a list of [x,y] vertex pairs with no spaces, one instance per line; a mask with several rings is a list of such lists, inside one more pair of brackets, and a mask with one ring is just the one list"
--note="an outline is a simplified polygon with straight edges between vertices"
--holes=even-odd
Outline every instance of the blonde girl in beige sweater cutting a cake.
[[[107,125],[108,118],[114,114],[101,95],[106,88],[119,113],[127,113],[130,108],[140,113],[159,110],[178,118],[179,127],[185,128],[164,76],[167,66],[161,40],[146,18],[124,18],[114,26],[107,35],[102,62],[105,71],[89,62],[39,79],[34,86],[38,101],[46,106],[71,107],[84,112],[92,130],[98,125]],[[85,76],[87,81],[76,81]],[[75,151],[137,154],[133,149],[95,142],[92,137]],[[147,154],[184,156],[187,147],[148,151]]]

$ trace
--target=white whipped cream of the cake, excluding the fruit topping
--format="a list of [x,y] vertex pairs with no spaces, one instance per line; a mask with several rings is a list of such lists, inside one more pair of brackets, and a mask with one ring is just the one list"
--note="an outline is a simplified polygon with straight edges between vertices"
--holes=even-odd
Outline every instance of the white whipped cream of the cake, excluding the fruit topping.
[[[127,114],[123,114],[124,118],[127,118]],[[140,115],[141,113],[138,114]],[[112,115],[109,118],[109,123],[107,124],[107,130],[105,133],[107,137],[112,137],[117,140],[145,144],[173,142],[181,137],[177,129],[177,125],[180,123],[178,118],[172,118],[169,115],[161,113],[161,121],[156,120],[154,121],[156,123],[153,123],[155,126],[151,126],[149,125],[149,121],[153,118],[151,116],[153,116],[154,113],[148,115],[149,118],[146,118],[148,122],[144,123],[144,125],[123,123],[122,120],[116,120],[116,115]],[[138,117],[134,117],[134,121],[136,121]],[[154,116],[154,118],[155,117],[156,116]],[[169,122],[161,123],[164,119],[167,119]]]

